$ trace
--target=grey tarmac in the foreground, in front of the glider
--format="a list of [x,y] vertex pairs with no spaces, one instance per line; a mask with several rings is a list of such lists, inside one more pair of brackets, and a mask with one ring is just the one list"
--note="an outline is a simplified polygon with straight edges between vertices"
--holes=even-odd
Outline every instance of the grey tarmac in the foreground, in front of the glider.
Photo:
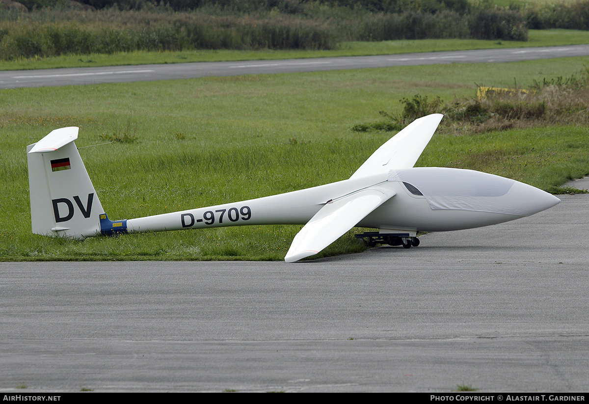
[[0,263],[0,391],[587,392],[589,195],[561,199],[295,264]]

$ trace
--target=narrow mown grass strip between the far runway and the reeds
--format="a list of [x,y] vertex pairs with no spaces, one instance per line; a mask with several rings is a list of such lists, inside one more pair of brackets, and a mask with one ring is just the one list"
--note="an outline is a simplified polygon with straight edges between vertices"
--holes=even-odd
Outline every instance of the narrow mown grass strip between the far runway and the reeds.
[[460,51],[589,44],[589,31],[573,29],[530,30],[527,42],[483,41],[479,39],[415,39],[383,42],[342,42],[333,51],[178,51],[125,52],[112,55],[64,55],[51,58],[26,58],[0,61],[0,70],[45,69],[61,67],[100,67],[119,65],[164,64],[184,62],[219,62],[241,60],[300,59],[336,56],[403,54],[409,52]]

